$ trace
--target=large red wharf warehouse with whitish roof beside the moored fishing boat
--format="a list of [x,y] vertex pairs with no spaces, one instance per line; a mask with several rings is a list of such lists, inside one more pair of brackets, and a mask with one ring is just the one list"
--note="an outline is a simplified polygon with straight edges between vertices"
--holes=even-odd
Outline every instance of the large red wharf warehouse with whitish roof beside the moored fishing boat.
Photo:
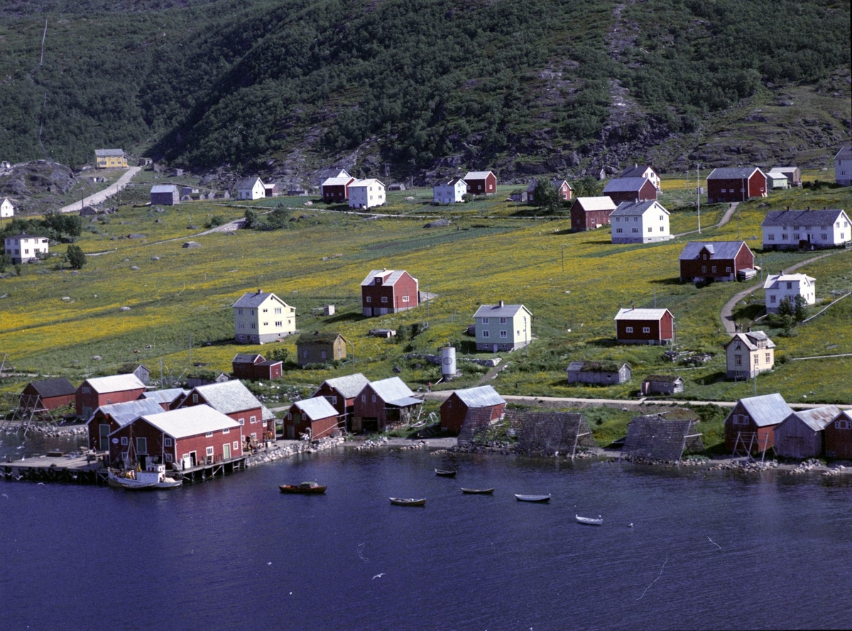
[[225,462],[243,455],[242,427],[207,405],[139,416],[109,436],[110,462],[127,468],[148,459],[181,468]]

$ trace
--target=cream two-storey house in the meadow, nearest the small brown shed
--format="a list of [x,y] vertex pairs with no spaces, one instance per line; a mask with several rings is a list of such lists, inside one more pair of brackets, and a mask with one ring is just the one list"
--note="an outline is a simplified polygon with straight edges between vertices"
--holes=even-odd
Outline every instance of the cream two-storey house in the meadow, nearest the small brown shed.
[[239,343],[263,344],[296,332],[296,308],[273,293],[247,292],[232,308],[234,339]]

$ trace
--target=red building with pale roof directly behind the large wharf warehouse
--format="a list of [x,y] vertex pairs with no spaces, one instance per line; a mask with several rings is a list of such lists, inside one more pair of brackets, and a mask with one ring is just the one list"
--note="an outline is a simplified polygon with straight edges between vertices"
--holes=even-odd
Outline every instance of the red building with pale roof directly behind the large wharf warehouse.
[[252,442],[275,439],[275,417],[241,381],[193,387],[181,399],[177,409],[204,404],[238,422],[245,439]]

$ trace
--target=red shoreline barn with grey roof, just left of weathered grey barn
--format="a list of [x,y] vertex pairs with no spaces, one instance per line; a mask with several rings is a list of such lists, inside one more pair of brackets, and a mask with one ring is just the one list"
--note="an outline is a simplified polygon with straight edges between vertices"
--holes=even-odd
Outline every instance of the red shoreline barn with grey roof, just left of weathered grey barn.
[[774,447],[775,427],[792,413],[778,393],[740,399],[725,419],[725,449],[751,452]]

